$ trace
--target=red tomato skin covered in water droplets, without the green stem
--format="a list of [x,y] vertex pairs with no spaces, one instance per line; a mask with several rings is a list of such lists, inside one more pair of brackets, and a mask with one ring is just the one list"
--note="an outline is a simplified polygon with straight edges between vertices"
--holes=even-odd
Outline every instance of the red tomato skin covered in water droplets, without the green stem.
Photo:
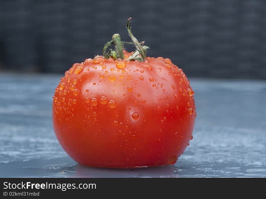
[[194,92],[170,59],[87,59],[65,74],[54,95],[53,125],[79,164],[174,164],[193,138]]

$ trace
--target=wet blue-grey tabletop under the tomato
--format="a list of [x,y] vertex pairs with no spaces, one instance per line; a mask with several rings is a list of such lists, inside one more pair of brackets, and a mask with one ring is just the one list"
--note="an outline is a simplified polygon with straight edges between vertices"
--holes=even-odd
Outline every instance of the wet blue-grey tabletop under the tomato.
[[193,140],[172,166],[91,168],[60,147],[52,126],[59,75],[0,74],[0,177],[266,177],[266,81],[189,78]]

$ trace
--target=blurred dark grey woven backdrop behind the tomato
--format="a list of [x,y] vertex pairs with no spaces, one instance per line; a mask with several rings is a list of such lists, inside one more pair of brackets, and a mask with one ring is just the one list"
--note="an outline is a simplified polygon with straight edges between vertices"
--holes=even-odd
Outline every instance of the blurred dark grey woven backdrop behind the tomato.
[[[190,77],[266,79],[266,1],[0,1],[0,73],[62,73],[125,28]],[[131,47],[128,50],[133,51]]]

